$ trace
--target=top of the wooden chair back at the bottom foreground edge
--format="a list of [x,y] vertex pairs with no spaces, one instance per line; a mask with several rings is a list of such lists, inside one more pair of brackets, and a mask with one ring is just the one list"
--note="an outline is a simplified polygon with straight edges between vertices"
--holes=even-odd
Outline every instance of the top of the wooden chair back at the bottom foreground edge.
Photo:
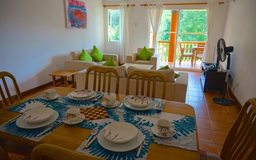
[[49,157],[54,160],[102,160],[100,157],[78,153],[51,144],[40,144],[33,149],[31,159],[41,160],[41,157]]

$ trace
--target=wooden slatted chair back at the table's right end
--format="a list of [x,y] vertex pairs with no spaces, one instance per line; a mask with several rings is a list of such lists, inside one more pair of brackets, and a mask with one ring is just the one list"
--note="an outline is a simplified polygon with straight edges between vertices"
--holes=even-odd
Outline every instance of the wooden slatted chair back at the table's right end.
[[[256,98],[248,100],[231,127],[221,151],[223,160],[243,159],[256,138]],[[247,159],[256,159],[256,147]]]

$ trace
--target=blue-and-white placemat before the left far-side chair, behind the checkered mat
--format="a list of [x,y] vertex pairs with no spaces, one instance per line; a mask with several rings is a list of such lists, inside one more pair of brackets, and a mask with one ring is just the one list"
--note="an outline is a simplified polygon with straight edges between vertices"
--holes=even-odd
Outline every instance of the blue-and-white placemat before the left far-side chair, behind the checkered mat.
[[102,92],[96,92],[96,93],[97,93],[97,95],[99,95],[99,97],[97,97],[96,100],[92,99],[89,101],[86,101],[86,100],[78,101],[78,100],[72,100],[72,99],[68,98],[68,96],[63,96],[63,97],[59,98],[57,100],[57,102],[66,103],[66,104],[73,105],[73,106],[90,108],[90,107],[94,106],[94,104],[96,102],[100,101],[103,97],[108,95],[107,93],[102,93]]

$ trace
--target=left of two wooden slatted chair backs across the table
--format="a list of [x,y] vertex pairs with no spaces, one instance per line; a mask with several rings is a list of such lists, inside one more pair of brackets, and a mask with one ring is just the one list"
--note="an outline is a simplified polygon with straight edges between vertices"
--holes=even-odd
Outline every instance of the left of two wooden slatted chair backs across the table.
[[111,74],[115,74],[116,76],[116,94],[119,92],[119,74],[118,72],[112,67],[102,67],[102,66],[91,66],[88,68],[86,72],[86,89],[88,89],[89,83],[89,74],[91,71],[94,71],[94,79],[93,79],[93,90],[96,91],[96,80],[97,80],[97,73],[98,73],[98,91],[101,89],[101,74],[103,74],[103,86],[102,92],[105,92],[106,86],[106,74],[108,73],[108,93],[110,93],[110,86],[111,86]]

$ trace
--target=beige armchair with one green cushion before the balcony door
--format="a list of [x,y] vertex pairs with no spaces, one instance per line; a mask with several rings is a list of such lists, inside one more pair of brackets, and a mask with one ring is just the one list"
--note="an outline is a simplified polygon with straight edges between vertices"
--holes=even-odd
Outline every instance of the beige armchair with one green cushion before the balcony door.
[[[160,58],[158,54],[154,54],[154,56],[152,56],[150,58],[150,60],[141,60],[137,54],[140,53],[140,51],[142,50],[142,48],[138,48],[137,49],[137,53],[132,53],[130,55],[126,56],[126,63],[136,63],[136,64],[151,64],[153,65],[153,70],[157,70],[160,67]],[[150,51],[155,53],[155,49],[154,48],[150,48]]]

